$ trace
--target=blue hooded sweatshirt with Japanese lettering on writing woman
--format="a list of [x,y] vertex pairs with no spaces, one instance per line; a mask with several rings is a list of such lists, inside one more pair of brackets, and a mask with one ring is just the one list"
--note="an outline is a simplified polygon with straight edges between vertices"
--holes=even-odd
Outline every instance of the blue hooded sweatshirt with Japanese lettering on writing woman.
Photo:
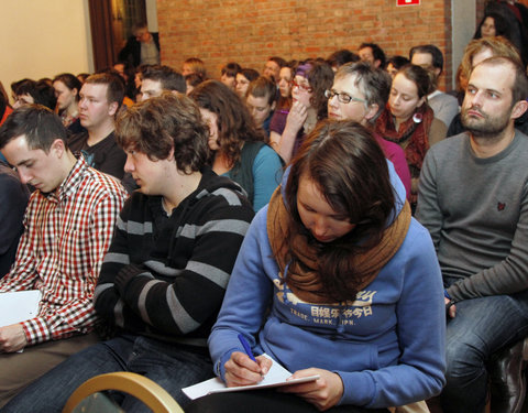
[[[396,215],[406,193],[388,166]],[[280,283],[266,219],[267,206],[248,230],[209,337],[217,374],[224,379],[231,354],[244,351],[241,333],[254,354],[266,352],[292,372],[314,367],[338,373],[344,390],[339,404],[388,407],[438,394],[446,311],[429,232],[413,218],[402,247],[355,300],[321,305],[302,302]]]

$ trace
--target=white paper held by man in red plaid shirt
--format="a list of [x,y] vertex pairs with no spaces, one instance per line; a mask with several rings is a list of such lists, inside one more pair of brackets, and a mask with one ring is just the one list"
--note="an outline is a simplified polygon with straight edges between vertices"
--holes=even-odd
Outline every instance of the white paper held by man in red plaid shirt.
[[35,317],[41,298],[38,290],[0,293],[0,327]]

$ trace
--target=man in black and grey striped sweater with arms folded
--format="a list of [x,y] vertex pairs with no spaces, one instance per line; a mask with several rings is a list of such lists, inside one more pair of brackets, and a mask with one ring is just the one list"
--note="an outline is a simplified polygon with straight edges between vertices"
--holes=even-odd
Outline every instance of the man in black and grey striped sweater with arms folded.
[[[113,337],[43,376],[7,412],[61,411],[80,383],[118,370],[151,378],[185,404],[180,389],[213,376],[207,338],[251,205],[237,184],[206,166],[209,130],[186,96],[133,106],[116,133],[140,189],[120,214],[96,286],[96,311]],[[131,396],[120,404],[142,409]]]

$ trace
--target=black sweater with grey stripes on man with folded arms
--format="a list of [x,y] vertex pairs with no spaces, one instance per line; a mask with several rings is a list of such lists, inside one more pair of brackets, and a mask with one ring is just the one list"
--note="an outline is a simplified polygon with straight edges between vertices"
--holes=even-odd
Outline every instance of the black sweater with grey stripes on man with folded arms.
[[161,196],[132,194],[101,267],[98,315],[122,333],[207,346],[252,218],[240,186],[209,169],[170,217]]

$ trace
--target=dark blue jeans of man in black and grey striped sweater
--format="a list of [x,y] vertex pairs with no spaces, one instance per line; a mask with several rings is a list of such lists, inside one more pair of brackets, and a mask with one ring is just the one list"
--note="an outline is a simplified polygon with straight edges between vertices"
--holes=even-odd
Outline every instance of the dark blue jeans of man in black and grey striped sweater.
[[[143,374],[182,405],[189,403],[182,388],[213,377],[211,361],[206,355],[142,336],[121,336],[69,357],[12,399],[2,413],[58,413],[82,382],[112,371]],[[125,412],[151,412],[130,395],[125,395],[120,404]]]

